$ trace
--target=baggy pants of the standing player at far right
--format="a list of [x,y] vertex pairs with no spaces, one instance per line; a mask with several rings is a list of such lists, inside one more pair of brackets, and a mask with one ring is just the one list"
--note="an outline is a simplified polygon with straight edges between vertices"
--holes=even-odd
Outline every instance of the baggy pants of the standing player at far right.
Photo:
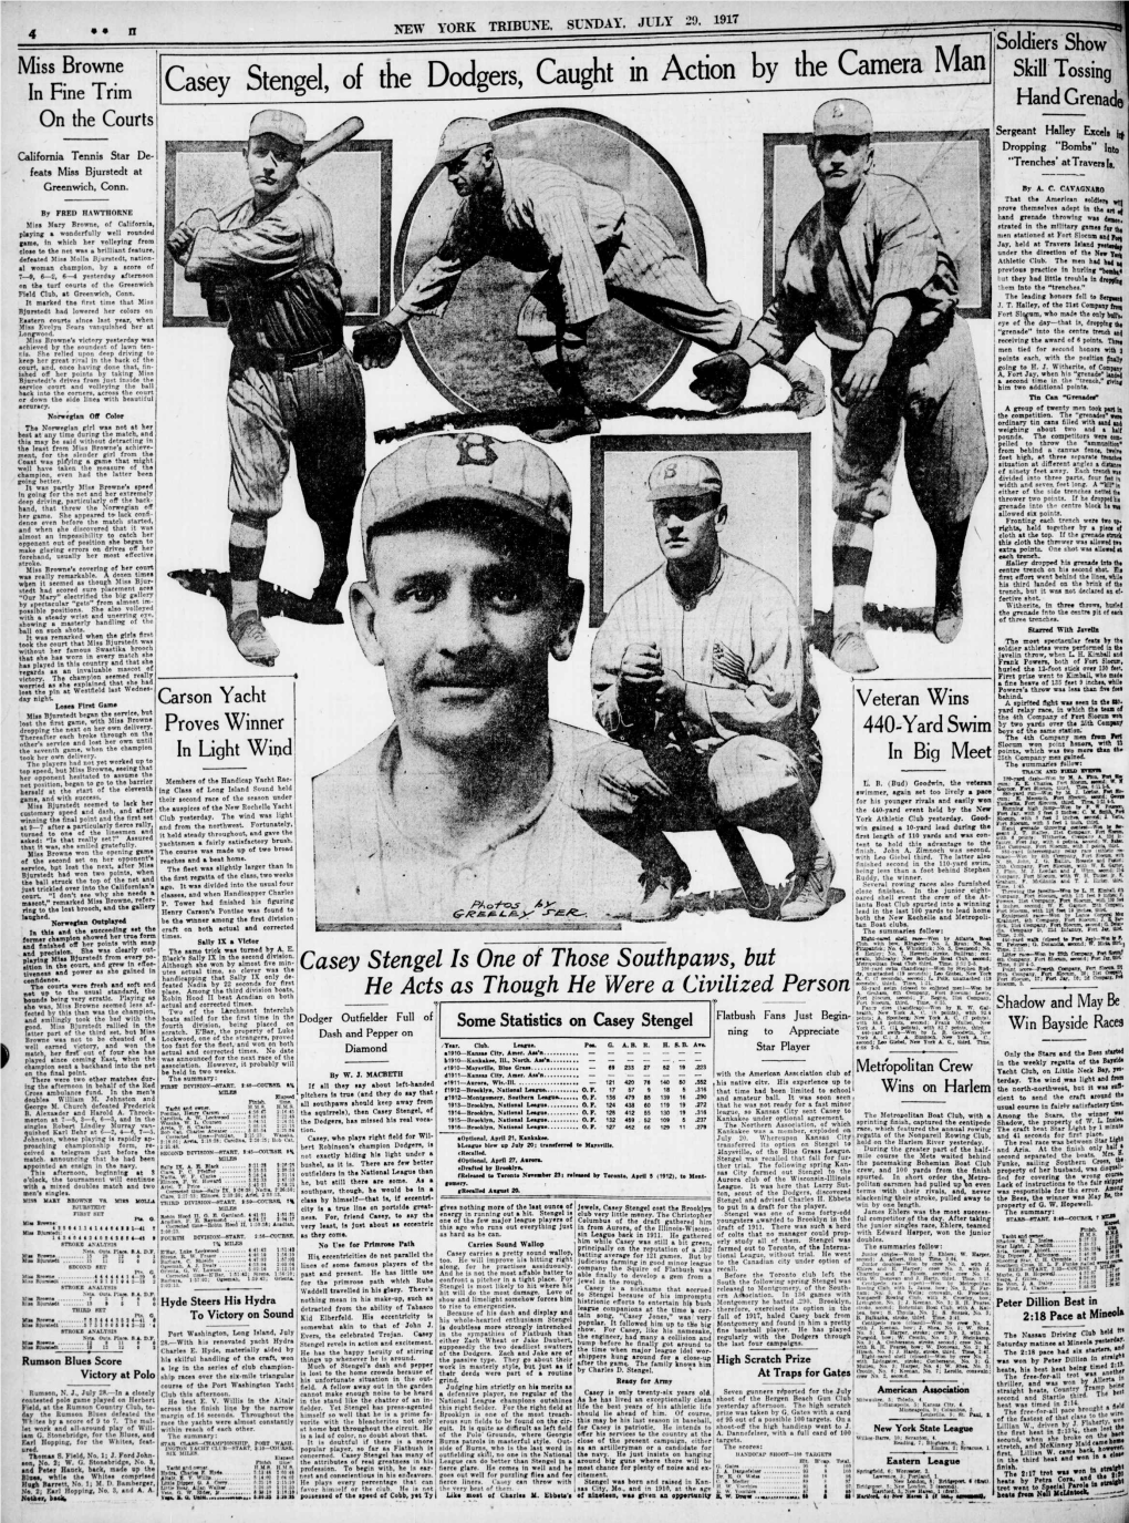
[[838,518],[873,522],[890,512],[905,423],[905,474],[930,527],[960,524],[987,475],[972,335],[956,318],[943,343],[916,364],[893,361],[872,396],[854,407],[838,387],[854,355],[831,350],[834,487]]

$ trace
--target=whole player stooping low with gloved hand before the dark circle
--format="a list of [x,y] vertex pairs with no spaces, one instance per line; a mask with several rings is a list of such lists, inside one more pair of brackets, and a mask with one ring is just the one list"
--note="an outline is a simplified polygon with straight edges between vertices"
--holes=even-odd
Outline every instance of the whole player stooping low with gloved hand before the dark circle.
[[[517,337],[557,393],[560,416],[533,437],[555,443],[599,431],[586,384],[587,334],[610,299],[653,323],[712,349],[711,401],[733,411],[744,401],[749,366],[730,352],[752,332],[735,302],[717,302],[671,233],[645,207],[610,186],[537,158],[499,158],[490,123],[461,116],[440,139],[437,163],[461,196],[438,253],[391,312],[355,335],[353,353],[390,366],[405,323],[441,315],[464,270],[487,254],[540,276],[517,318]],[[793,385],[800,417],[823,408],[823,379],[803,361],[776,364]]]

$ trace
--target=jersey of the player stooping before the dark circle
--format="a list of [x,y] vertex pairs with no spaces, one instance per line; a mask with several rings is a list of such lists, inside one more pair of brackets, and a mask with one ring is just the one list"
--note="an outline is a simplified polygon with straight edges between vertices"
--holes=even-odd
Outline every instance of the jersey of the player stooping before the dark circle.
[[460,203],[438,253],[426,262],[397,306],[409,317],[441,315],[464,270],[493,254],[519,270],[552,270],[569,324],[609,309],[598,248],[616,238],[624,198],[539,158],[499,160],[501,193],[490,189]]

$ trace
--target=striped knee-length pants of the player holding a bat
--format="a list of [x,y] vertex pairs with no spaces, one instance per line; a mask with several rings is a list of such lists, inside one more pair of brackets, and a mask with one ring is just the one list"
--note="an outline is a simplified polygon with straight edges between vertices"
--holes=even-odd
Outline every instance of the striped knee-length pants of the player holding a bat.
[[227,431],[227,506],[233,513],[274,518],[294,446],[313,522],[351,522],[365,478],[365,393],[361,372],[344,349],[297,370],[262,369],[234,350]]

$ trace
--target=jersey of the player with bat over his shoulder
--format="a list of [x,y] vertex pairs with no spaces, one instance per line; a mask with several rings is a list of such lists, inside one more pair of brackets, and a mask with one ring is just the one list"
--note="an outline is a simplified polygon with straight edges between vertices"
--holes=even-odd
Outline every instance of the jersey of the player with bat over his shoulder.
[[216,286],[236,344],[301,355],[342,340],[333,222],[301,184],[263,212],[246,201],[222,231],[202,227],[184,277]]

